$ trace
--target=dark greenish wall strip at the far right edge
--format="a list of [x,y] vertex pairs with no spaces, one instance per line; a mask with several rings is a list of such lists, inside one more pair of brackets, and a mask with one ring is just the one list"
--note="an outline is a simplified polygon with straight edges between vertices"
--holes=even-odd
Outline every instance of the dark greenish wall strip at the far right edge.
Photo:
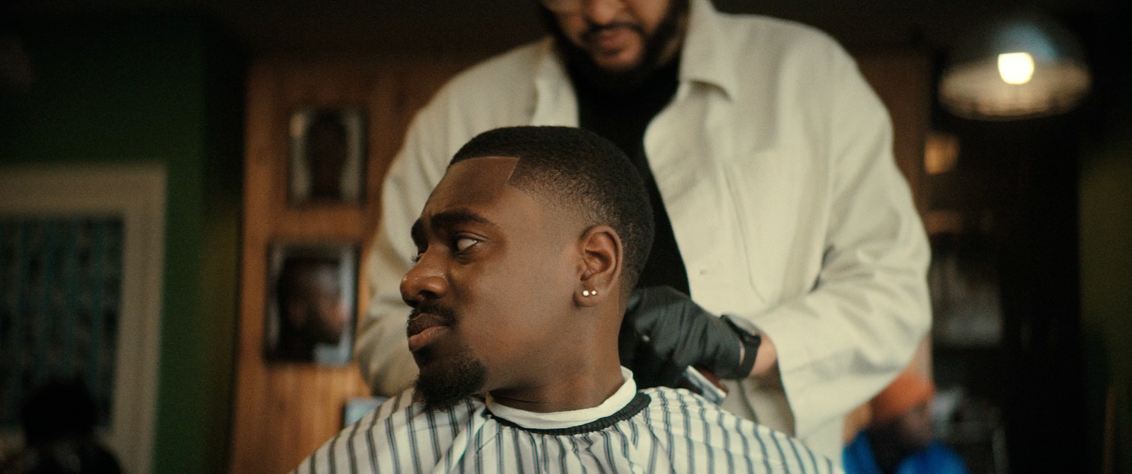
[[1081,328],[1089,414],[1088,472],[1105,472],[1112,390],[1112,473],[1132,473],[1132,2],[1086,29],[1098,120],[1080,160]]

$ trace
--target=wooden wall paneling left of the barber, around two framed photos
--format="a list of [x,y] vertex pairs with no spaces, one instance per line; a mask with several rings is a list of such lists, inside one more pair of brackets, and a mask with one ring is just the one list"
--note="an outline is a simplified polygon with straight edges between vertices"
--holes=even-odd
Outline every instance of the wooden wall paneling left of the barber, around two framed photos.
[[[284,473],[341,430],[342,408],[369,394],[355,364],[267,364],[264,309],[271,242],[368,242],[378,219],[381,179],[404,129],[428,97],[470,60],[403,58],[371,63],[266,62],[248,76],[247,157],[233,473]],[[286,201],[288,123],[301,106],[362,105],[367,120],[366,198],[361,205],[291,207]],[[366,256],[358,316],[368,303]]]

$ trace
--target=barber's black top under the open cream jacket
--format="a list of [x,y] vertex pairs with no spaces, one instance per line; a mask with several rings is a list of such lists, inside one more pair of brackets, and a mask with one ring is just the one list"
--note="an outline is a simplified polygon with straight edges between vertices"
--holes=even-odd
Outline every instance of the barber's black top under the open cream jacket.
[[577,94],[578,124],[617,144],[636,166],[649,191],[657,234],[637,286],[669,285],[689,294],[688,275],[676,244],[672,223],[644,154],[644,131],[649,122],[676,95],[679,63],[679,58],[676,58],[658,69],[640,87],[617,92],[598,89],[581,79],[581,75],[573,68],[567,69]]

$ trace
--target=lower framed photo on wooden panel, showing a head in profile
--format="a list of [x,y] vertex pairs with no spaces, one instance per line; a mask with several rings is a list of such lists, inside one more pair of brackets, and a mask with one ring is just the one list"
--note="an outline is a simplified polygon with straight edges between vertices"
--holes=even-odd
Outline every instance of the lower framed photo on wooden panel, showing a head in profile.
[[350,363],[357,245],[273,243],[267,265],[265,357],[269,362]]

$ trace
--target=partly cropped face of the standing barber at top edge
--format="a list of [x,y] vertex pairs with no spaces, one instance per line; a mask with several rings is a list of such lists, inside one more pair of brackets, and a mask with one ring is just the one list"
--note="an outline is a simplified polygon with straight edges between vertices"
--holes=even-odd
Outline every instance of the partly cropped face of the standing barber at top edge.
[[[581,8],[554,12],[561,34],[610,72],[625,72],[644,60],[649,43],[672,0],[577,0]],[[681,0],[677,0],[681,1]],[[666,38],[670,41],[670,38]],[[661,45],[667,46],[667,45]]]

